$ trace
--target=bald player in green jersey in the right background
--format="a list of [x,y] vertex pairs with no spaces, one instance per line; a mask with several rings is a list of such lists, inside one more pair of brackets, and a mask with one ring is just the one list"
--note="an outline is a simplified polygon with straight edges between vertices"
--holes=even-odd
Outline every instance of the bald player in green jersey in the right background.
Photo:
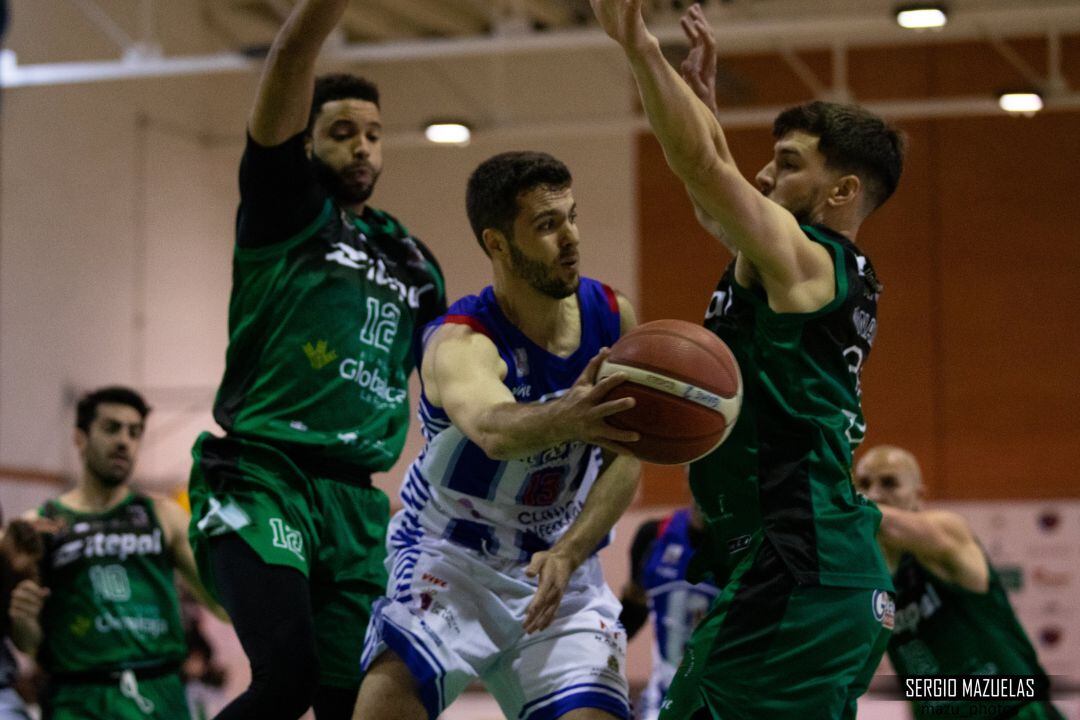
[[[855,465],[855,487],[883,516],[878,540],[896,586],[896,627],[888,649],[896,675],[1030,680],[1015,697],[917,702],[915,717],[1063,720],[1045,701],[1047,674],[968,521],[923,510],[915,456],[888,445],[870,448]],[[1041,697],[1027,696],[1031,690]]]

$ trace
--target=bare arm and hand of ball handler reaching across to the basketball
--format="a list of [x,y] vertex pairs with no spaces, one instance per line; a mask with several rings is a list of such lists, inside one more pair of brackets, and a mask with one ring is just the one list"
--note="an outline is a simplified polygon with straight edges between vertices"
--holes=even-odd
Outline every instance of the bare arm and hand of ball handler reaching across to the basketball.
[[465,325],[447,324],[428,344],[420,371],[424,392],[443,407],[455,425],[496,460],[516,460],[568,440],[620,449],[637,433],[605,421],[634,406],[633,398],[604,403],[625,380],[619,373],[595,382],[607,352],[600,352],[556,400],[518,403],[502,383],[507,364],[485,335]]

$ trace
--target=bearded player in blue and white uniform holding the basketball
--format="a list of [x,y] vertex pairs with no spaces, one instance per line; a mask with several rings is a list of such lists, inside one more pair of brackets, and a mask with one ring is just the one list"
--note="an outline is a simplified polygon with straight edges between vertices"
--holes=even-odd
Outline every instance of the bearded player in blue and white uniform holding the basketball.
[[390,524],[353,717],[433,720],[480,679],[508,718],[627,718],[626,637],[595,553],[633,498],[639,463],[617,451],[637,435],[606,422],[633,407],[604,402],[624,378],[595,378],[634,312],[580,276],[559,161],[495,155],[465,205],[494,282],[426,330],[428,445]]

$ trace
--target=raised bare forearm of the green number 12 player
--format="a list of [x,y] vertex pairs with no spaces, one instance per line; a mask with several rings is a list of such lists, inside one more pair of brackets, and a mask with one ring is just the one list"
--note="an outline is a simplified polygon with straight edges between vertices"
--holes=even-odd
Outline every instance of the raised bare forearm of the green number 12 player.
[[281,145],[308,126],[315,59],[348,4],[348,0],[300,0],[278,32],[247,121],[247,131],[259,145]]

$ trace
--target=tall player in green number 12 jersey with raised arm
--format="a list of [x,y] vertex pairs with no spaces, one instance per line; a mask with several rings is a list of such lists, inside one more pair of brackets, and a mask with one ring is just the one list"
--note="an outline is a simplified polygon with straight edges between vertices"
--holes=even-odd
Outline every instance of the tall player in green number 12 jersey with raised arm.
[[346,0],[301,0],[267,57],[240,164],[225,376],[191,473],[192,545],[252,664],[218,716],[348,718],[408,427],[415,336],[446,307],[428,249],[368,204],[376,86],[314,76]]

